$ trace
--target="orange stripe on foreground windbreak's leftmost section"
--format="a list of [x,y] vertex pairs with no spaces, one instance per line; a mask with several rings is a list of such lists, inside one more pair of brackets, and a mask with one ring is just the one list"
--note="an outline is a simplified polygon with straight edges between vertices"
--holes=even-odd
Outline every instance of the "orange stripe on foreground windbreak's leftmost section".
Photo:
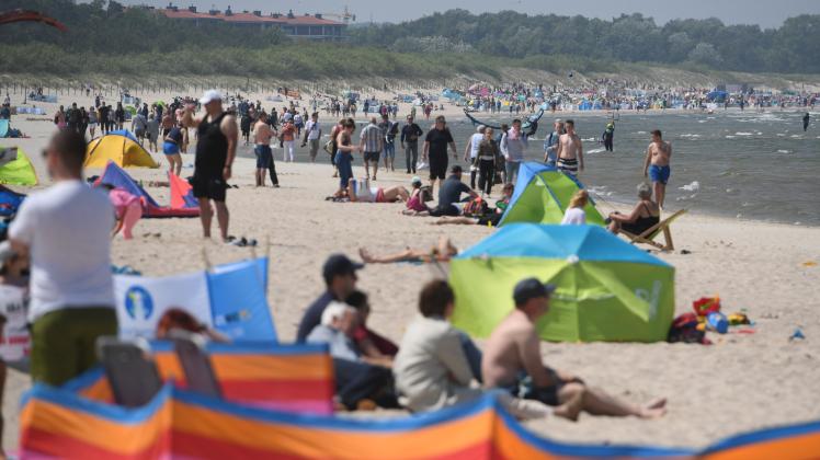
[[129,456],[148,449],[171,428],[171,404],[139,424],[121,424],[42,400],[31,400],[20,415],[27,429],[80,440],[99,449]]

